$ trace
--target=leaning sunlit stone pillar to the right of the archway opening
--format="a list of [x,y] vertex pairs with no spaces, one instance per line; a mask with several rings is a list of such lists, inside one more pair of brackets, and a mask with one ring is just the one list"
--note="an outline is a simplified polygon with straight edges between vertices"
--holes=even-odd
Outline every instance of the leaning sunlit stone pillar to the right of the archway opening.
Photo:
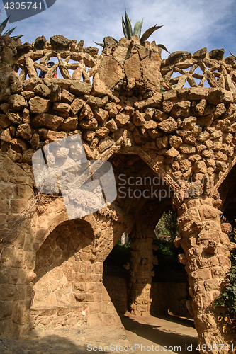
[[[178,208],[181,237],[175,240],[176,246],[181,244],[186,255],[184,263],[189,275],[198,343],[200,346],[211,345],[212,348],[213,344],[230,344],[218,322],[218,310],[213,307],[231,265],[228,251],[230,240],[221,231],[221,212],[216,208],[218,202],[206,195],[184,200]],[[208,350],[207,353],[224,352],[220,352],[218,346],[218,351]]]

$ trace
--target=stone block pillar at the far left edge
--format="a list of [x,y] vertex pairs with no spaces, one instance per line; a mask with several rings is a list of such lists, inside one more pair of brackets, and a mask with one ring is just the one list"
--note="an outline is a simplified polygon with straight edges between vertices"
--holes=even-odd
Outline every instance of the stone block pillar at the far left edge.
[[0,169],[0,333],[16,338],[29,329],[35,253],[30,249],[31,214],[23,209],[34,197],[33,181],[1,154]]

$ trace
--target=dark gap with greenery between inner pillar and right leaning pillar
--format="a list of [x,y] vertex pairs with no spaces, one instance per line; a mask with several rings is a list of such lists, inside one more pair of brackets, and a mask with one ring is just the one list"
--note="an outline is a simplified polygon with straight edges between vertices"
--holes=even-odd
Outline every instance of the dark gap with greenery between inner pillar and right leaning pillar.
[[155,227],[156,239],[153,244],[156,249],[153,253],[157,257],[157,263],[153,268],[150,314],[169,314],[193,319],[188,310],[191,298],[188,276],[182,261],[184,250],[180,245],[176,247],[174,244],[178,234],[178,216],[172,207],[167,206]]

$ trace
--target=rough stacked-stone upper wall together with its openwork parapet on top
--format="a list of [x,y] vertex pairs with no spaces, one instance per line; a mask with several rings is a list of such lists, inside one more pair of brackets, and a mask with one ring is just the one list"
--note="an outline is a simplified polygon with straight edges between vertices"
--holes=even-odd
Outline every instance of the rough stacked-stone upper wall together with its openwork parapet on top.
[[[44,62],[46,57],[55,55],[47,46]],[[64,54],[62,50],[56,51],[65,62],[63,66],[60,59],[59,68],[70,65],[73,52],[68,50]],[[147,52],[145,57],[143,51]],[[101,55],[94,54],[92,49],[91,52],[93,56],[84,48],[77,54],[96,61],[96,64],[86,63],[92,69],[96,65],[92,84],[80,81],[80,77],[39,79],[36,74],[29,74],[30,79],[25,80],[20,74],[1,91],[2,151],[13,161],[30,164],[33,153],[44,144],[79,132],[89,159],[108,159],[115,150],[133,152],[142,156],[154,171],[161,171],[164,178],[171,178],[176,190],[189,190],[193,194],[193,186],[186,183],[188,178],[199,181],[196,193],[201,193],[201,189],[209,192],[220,185],[228,168],[235,163],[236,76],[232,57],[215,59],[206,51],[203,57],[176,52],[161,62],[154,43],[140,45],[137,40],[124,39],[118,45],[107,46]],[[32,57],[30,60],[37,67],[33,60],[43,53],[31,47],[18,62],[27,62]],[[156,85],[148,86],[142,65],[133,62],[142,63],[145,59],[150,60],[152,77],[159,78]],[[107,70],[113,64],[107,61],[116,63],[122,77],[116,69],[108,75]],[[153,63],[157,63],[154,72]],[[187,67],[191,67],[189,74]],[[206,69],[198,86],[189,79],[197,67]],[[140,70],[140,74],[130,68]],[[24,70],[27,72],[27,64]],[[169,72],[186,76],[191,87],[176,84]],[[218,79],[215,84],[209,73]],[[113,78],[114,82],[106,82],[106,78]],[[163,80],[169,86],[163,86]],[[203,87],[207,80],[210,87]],[[164,87],[161,92],[160,84]]]

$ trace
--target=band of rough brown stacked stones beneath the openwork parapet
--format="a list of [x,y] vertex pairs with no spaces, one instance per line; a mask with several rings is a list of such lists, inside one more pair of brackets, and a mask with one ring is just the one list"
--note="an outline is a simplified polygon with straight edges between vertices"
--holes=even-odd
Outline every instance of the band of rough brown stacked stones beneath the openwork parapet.
[[[120,47],[125,48],[122,44]],[[207,59],[207,54],[206,58],[191,60],[205,67],[208,64],[210,69],[219,67],[222,72],[232,69],[223,60]],[[104,55],[102,59],[116,61],[113,56]],[[177,68],[172,64],[172,71],[191,65],[190,59],[184,60],[184,64],[178,63],[179,57],[174,59]],[[206,72],[212,73],[210,69]],[[166,66],[161,72],[165,70]],[[102,65],[96,74],[103,77]],[[225,78],[234,85],[234,76],[230,79],[230,74],[225,74]],[[160,167],[164,175],[177,183],[181,177],[201,181],[204,174],[208,190],[219,185],[234,157],[234,91],[216,84],[211,88],[193,85],[190,89],[172,89],[153,95],[145,88],[146,81],[136,80],[130,89],[124,84],[125,78],[116,79],[122,83],[119,96],[116,86],[112,93],[97,86],[96,80],[93,85],[78,80],[35,77],[16,81],[1,96],[2,151],[13,161],[30,164],[31,156],[43,144],[81,132],[89,159],[108,159],[114,152],[120,152],[121,147],[124,152],[140,154],[142,151],[142,157],[150,161],[152,169],[155,166],[157,171]],[[142,84],[143,96],[137,82]]]

